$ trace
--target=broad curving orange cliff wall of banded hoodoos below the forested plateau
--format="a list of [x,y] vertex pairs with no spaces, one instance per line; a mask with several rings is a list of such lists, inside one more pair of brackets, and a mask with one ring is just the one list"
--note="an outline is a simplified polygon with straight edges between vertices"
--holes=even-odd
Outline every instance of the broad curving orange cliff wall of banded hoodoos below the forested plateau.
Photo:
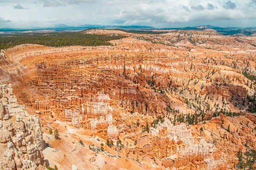
[[[151,46],[146,43],[144,48],[149,50]],[[23,55],[28,55],[26,48],[31,47],[20,48]],[[152,52],[60,49],[64,52],[58,54],[48,53],[48,48],[45,50],[45,55],[34,52],[37,57],[20,59],[22,64],[18,64],[17,74],[23,76],[17,79],[26,89],[17,88],[15,92],[20,102],[32,107],[36,113],[70,122],[77,128],[94,130],[91,119],[99,121],[108,113],[113,116],[113,125],[119,126],[122,124],[120,114],[137,112],[153,117],[165,116],[168,108],[177,105],[180,112],[193,112],[183,103],[186,98],[198,95],[202,102],[204,96],[219,96],[220,100],[210,101],[211,105],[217,100],[220,107],[224,105],[225,108],[228,108],[226,105],[231,96],[235,101],[246,98],[246,88],[224,85],[226,77],[216,67],[201,65],[199,59],[192,64],[183,62],[179,55],[188,54],[188,51],[179,51],[179,48],[168,47],[162,52],[152,49]],[[12,52],[6,54],[13,55]],[[209,82],[208,72],[212,73],[214,82]],[[228,77],[232,79],[231,75]],[[215,79],[220,86],[215,85]],[[177,89],[182,92],[177,94]],[[177,104],[174,98],[179,100]],[[107,130],[108,125],[102,124],[98,128]],[[102,137],[107,137],[105,132],[100,132]]]

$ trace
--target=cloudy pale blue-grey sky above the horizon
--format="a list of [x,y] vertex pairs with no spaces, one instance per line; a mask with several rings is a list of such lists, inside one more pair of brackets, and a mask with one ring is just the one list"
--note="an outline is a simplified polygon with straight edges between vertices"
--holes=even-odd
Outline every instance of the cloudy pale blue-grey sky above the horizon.
[[0,28],[256,26],[256,0],[0,0]]

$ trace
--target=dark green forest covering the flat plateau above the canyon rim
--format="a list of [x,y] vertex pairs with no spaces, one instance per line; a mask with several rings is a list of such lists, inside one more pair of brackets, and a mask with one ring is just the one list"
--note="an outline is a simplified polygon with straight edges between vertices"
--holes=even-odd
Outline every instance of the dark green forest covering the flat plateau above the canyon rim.
[[53,32],[0,35],[0,50],[21,44],[38,44],[51,47],[113,45],[110,40],[125,38],[122,35],[94,35],[82,32]]

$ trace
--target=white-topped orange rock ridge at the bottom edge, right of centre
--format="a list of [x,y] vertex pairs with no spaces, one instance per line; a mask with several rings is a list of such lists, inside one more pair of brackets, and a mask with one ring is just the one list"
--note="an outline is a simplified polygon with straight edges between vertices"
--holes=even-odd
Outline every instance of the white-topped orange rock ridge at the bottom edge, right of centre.
[[223,158],[214,158],[217,148],[203,137],[195,137],[194,133],[191,127],[185,124],[174,126],[166,119],[157,128],[151,128],[150,135],[143,136],[127,153],[160,159],[162,166],[170,169],[221,169],[226,162]]

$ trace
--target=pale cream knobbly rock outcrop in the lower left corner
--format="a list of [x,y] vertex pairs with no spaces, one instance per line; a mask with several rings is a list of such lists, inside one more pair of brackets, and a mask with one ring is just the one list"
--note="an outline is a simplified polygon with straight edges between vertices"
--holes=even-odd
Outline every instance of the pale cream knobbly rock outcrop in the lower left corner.
[[18,105],[12,85],[0,85],[0,169],[37,170],[44,164],[39,117]]

